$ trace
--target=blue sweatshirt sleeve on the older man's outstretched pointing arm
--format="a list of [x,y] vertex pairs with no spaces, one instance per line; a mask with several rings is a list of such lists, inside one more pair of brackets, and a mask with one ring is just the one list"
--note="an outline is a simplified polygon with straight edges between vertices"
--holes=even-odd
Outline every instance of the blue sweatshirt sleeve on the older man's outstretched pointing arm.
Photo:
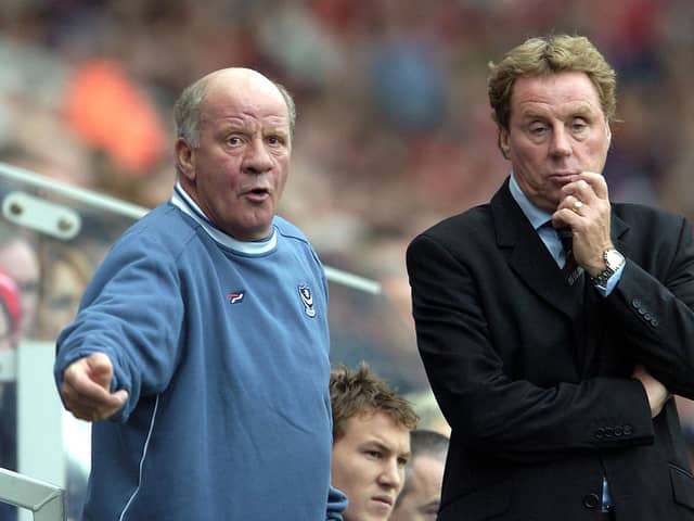
[[183,301],[176,259],[156,240],[130,234],[106,256],[74,322],[59,335],[54,378],[95,352],[114,366],[112,391],[129,393],[114,417],[125,421],[141,395],[165,389],[180,352]]

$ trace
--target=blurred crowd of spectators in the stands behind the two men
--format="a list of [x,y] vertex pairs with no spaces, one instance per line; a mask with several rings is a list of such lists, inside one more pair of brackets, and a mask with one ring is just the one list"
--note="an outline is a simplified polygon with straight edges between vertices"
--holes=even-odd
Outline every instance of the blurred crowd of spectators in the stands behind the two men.
[[[404,247],[507,175],[488,63],[537,34],[591,38],[618,73],[613,199],[694,218],[692,27],[691,0],[3,0],[0,162],[152,207],[171,193],[181,89],[232,65],[278,79],[298,109],[282,214],[384,290],[331,289],[333,357],[416,392]],[[68,319],[40,320],[50,338]]]

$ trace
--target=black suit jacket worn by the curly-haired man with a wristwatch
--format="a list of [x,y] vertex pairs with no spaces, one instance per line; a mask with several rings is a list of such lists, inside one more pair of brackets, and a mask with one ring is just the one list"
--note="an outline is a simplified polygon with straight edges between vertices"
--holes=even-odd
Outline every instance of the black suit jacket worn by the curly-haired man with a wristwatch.
[[694,245],[687,223],[612,205],[626,256],[601,296],[570,287],[506,183],[490,204],[415,238],[417,345],[451,443],[439,520],[694,520],[677,409],[651,419],[635,364],[694,398]]

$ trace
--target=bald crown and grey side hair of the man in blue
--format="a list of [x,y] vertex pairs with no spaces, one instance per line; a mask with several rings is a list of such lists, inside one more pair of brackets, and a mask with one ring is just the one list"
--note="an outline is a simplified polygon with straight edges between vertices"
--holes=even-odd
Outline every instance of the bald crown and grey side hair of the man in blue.
[[252,68],[221,68],[202,77],[181,93],[174,106],[177,137],[185,139],[193,148],[200,145],[200,123],[203,103],[210,93],[219,90],[233,90],[239,96],[250,92],[280,94],[286,104],[290,120],[290,134],[294,134],[296,107],[290,92],[280,84],[272,81]]

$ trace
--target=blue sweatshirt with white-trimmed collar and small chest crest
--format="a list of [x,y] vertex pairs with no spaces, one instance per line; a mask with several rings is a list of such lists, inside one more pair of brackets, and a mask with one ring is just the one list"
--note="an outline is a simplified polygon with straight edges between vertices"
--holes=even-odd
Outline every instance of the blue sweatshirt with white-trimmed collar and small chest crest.
[[129,392],[92,427],[85,519],[340,520],[326,314],[296,227],[275,217],[267,240],[235,241],[177,186],[116,242],[57,340],[59,389],[102,352]]

